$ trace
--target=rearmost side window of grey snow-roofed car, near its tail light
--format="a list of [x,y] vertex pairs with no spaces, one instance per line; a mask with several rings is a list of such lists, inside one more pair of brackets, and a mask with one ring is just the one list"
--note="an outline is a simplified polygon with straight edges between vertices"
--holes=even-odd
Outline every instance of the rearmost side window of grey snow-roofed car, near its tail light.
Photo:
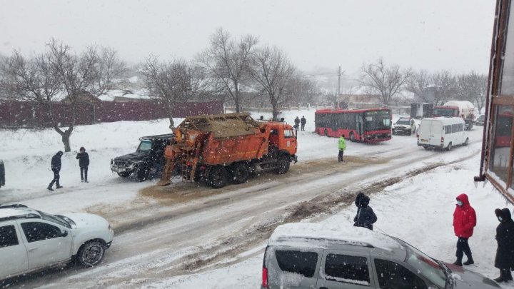
[[276,250],[278,267],[284,272],[304,275],[307,278],[314,276],[318,264],[318,253],[302,252],[296,250]]

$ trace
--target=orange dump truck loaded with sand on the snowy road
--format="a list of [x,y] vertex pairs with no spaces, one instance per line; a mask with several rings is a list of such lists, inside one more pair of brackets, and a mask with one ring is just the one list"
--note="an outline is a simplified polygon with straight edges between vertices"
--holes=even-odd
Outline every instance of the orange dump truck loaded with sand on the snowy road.
[[293,127],[278,121],[255,121],[248,113],[191,116],[175,128],[166,147],[166,167],[159,186],[178,173],[183,180],[213,188],[244,183],[251,174],[286,173],[296,163]]

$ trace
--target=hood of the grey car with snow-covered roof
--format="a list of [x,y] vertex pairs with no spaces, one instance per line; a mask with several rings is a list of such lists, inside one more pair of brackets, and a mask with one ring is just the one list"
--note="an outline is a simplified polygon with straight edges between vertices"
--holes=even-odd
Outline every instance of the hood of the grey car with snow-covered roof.
[[453,288],[455,289],[493,289],[500,288],[495,281],[490,280],[489,278],[481,275],[479,273],[475,273],[471,270],[466,270],[458,265],[453,265],[449,263],[445,263],[448,268],[452,271],[452,278],[455,280],[455,285]]

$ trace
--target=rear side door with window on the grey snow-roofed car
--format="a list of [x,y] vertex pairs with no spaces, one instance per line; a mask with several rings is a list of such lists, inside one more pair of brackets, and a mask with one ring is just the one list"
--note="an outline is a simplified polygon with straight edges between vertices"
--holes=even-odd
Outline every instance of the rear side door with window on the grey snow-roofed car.
[[375,288],[369,253],[324,250],[316,288]]

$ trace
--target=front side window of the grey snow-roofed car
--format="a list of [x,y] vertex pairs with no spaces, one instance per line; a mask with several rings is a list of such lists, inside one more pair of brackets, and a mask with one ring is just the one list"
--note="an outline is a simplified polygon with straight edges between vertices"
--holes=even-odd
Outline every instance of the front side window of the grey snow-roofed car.
[[423,279],[398,263],[375,259],[378,285],[381,289],[426,289]]

